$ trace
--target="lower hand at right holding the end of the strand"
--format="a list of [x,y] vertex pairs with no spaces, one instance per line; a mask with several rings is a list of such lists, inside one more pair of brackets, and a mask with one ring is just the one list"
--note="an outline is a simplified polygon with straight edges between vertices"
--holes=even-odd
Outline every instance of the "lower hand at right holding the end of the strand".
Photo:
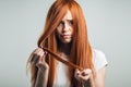
[[91,69],[85,69],[83,71],[79,71],[78,69],[75,70],[74,77],[78,80],[86,82],[92,77],[92,70]]

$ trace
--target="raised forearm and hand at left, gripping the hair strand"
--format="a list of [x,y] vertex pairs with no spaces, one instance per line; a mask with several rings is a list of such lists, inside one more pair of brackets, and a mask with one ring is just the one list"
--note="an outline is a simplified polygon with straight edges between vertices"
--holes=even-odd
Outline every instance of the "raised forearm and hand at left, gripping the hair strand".
[[49,65],[45,61],[46,54],[37,48],[31,55],[32,87],[47,87]]

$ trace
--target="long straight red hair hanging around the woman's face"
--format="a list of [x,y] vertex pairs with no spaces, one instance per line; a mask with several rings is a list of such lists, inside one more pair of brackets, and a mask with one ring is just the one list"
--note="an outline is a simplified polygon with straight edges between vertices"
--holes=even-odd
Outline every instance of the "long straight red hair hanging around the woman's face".
[[[91,69],[94,72],[92,62],[92,48],[87,37],[87,27],[81,7],[74,0],[57,0],[50,7],[44,32],[38,39],[38,47],[46,47],[53,52],[58,52],[58,40],[56,38],[56,27],[59,25],[67,11],[70,10],[73,17],[73,38],[70,51],[70,62],[83,67]],[[31,59],[31,58],[29,58]],[[52,55],[46,57],[46,62],[49,64],[48,86],[52,87],[56,75],[57,61]],[[35,65],[31,66],[32,85],[34,85],[38,69]],[[94,74],[93,74],[94,75]],[[69,80],[71,87],[82,87],[81,83],[74,78],[74,70],[69,67]],[[88,80],[88,87],[90,80]]]

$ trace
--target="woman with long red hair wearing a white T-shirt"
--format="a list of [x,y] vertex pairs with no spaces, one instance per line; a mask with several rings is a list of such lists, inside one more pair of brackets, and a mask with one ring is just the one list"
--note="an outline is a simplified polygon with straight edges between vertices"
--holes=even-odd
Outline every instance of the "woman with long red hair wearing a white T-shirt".
[[[83,70],[72,69],[55,59]],[[74,0],[57,0],[50,7],[44,32],[27,64],[32,87],[104,87],[107,61],[103,52],[92,49],[83,12]]]

